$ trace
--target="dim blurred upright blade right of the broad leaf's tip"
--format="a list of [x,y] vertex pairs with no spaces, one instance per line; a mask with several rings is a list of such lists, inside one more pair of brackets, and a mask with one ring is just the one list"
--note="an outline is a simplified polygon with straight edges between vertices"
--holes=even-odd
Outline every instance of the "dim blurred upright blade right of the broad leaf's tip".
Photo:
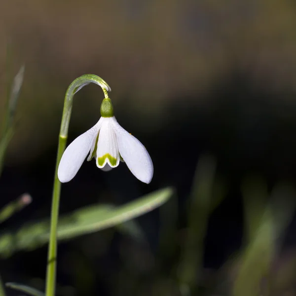
[[202,268],[203,244],[211,213],[212,190],[216,172],[216,160],[210,155],[200,157],[188,207],[187,236],[182,250],[179,265],[179,281],[181,292],[195,294],[198,272]]

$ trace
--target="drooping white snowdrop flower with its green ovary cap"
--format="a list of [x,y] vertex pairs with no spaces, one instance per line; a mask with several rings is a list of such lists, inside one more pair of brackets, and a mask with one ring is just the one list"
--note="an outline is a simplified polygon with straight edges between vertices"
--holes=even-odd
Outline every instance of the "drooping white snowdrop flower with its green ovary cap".
[[136,178],[149,184],[153,176],[152,160],[140,141],[118,124],[110,98],[103,100],[101,116],[95,126],[65,150],[58,168],[60,182],[71,181],[89,153],[87,160],[94,157],[97,167],[103,171],[117,167],[121,160]]

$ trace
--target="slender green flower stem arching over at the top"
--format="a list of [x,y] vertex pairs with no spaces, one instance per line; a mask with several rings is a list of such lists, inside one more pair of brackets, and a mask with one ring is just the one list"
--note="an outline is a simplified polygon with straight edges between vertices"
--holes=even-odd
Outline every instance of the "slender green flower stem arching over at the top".
[[111,91],[110,86],[99,76],[93,74],[84,74],[76,78],[68,87],[65,95],[64,110],[62,115],[61,129],[59,135],[59,146],[57,153],[57,162],[53,183],[52,204],[51,204],[51,218],[50,218],[50,237],[48,247],[48,261],[46,271],[46,296],[54,296],[55,281],[56,281],[56,259],[57,259],[57,225],[59,217],[59,204],[61,183],[58,179],[58,167],[62,155],[66,148],[68,138],[68,129],[72,112],[74,94],[83,86],[89,83],[96,83],[100,85],[104,91],[105,98],[108,98],[108,91]]

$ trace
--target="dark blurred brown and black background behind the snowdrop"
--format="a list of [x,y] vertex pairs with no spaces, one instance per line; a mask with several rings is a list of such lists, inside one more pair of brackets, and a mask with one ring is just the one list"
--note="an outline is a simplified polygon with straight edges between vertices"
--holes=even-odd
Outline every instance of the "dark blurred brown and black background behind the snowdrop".
[[[205,229],[199,244],[203,250],[196,252],[201,252],[202,263],[192,286],[206,288],[196,288],[190,295],[243,295],[232,288],[240,264],[228,263],[246,248],[244,190],[251,191],[254,199],[252,214],[259,212],[258,200],[264,200],[264,211],[268,208],[269,194],[279,182],[284,182],[284,189],[289,187],[289,194],[296,182],[295,32],[292,0],[0,0],[1,118],[7,77],[13,77],[21,65],[26,67],[15,134],[0,178],[0,205],[24,192],[33,197],[30,206],[0,224],[1,232],[49,218],[65,92],[76,77],[97,74],[111,86],[119,123],[148,149],[154,177],[146,185],[124,164],[104,173],[94,162],[84,163],[75,179],[62,187],[61,213],[98,202],[120,205],[174,186],[177,202],[166,213],[177,217],[170,224],[174,241],[164,240],[174,250],[159,255],[160,210],[137,219],[144,241],[112,228],[63,242],[58,295],[185,293],[178,288],[179,265],[187,230],[199,231],[197,226],[190,228],[188,205],[198,183],[195,168],[203,155],[211,156],[202,158],[202,168],[208,167],[204,159],[210,159],[210,167],[215,163],[219,186],[213,195],[222,198],[200,222]],[[103,98],[97,85],[75,95],[69,143],[97,122]],[[264,242],[263,253],[270,251],[269,246],[273,255],[259,286],[268,286],[266,278],[282,270],[279,266],[292,262],[290,269],[285,267],[280,288],[255,289],[258,294],[250,296],[296,295],[292,278],[296,195],[290,195],[288,201],[280,190],[281,217],[289,221],[281,239],[274,235],[272,243]],[[289,215],[285,215],[287,208]],[[46,256],[44,246],[2,258],[3,282],[44,289]],[[230,267],[223,269],[220,278],[226,263]],[[256,264],[260,257],[252,265],[254,270]]]

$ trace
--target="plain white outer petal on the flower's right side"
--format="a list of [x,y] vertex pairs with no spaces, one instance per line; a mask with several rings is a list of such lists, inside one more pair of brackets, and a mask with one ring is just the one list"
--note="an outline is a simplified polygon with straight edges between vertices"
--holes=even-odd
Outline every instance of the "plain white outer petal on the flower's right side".
[[114,116],[111,119],[120,155],[135,177],[149,184],[153,176],[153,163],[146,148],[138,139],[122,128]]

